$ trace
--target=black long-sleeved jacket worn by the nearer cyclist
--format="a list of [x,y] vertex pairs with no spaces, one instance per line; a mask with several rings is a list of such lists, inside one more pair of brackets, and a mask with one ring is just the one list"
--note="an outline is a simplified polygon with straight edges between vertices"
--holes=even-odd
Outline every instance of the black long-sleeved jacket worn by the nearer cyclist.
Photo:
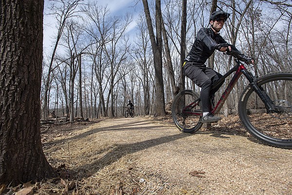
[[[205,67],[204,63],[214,53],[216,45],[219,43],[226,43],[219,33],[215,34],[211,28],[201,28],[184,61],[191,61],[194,65]],[[233,45],[230,46],[232,50],[238,51]]]

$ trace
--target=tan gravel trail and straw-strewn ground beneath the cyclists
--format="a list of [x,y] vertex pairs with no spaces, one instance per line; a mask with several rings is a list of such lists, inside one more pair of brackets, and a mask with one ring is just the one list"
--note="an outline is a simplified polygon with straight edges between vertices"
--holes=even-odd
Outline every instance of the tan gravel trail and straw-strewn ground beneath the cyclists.
[[237,116],[195,134],[150,117],[43,125],[41,132],[58,176],[26,185],[34,194],[292,195],[292,150],[259,143]]

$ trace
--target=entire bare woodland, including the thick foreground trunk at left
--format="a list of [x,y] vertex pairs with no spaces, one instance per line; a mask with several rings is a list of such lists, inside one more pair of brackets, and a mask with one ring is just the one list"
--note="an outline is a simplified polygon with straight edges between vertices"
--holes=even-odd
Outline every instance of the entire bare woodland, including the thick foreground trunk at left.
[[[129,100],[138,116],[165,116],[179,90],[198,91],[181,64],[212,10],[231,13],[221,35],[256,60],[251,72],[292,68],[291,0],[133,0],[137,18],[99,2],[0,1],[0,183],[55,175],[42,151],[41,118],[122,117]],[[44,31],[43,14],[54,19]],[[49,28],[52,42],[43,45]],[[234,62],[216,53],[208,63],[225,73]],[[225,115],[237,112],[246,84],[238,81]]]

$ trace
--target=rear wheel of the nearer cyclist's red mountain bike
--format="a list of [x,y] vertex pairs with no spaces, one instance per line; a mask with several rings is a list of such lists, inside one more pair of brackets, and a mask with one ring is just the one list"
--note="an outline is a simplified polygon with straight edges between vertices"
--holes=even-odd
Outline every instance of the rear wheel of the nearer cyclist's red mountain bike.
[[200,96],[191,91],[180,92],[173,100],[171,114],[177,128],[184,133],[195,133],[201,126]]

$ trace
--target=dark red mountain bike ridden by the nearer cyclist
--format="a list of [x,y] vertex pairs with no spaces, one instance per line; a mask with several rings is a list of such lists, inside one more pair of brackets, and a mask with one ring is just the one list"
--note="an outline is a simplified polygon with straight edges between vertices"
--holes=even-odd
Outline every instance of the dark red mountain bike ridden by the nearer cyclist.
[[[274,72],[257,77],[238,60],[238,54],[228,52],[236,65],[214,84],[234,73],[219,101],[210,103],[211,113],[217,114],[238,78],[244,75],[248,85],[238,101],[238,114],[247,131],[264,144],[292,149],[292,72]],[[202,126],[200,95],[192,90],[181,91],[172,104],[176,127],[185,133],[195,133]]]

